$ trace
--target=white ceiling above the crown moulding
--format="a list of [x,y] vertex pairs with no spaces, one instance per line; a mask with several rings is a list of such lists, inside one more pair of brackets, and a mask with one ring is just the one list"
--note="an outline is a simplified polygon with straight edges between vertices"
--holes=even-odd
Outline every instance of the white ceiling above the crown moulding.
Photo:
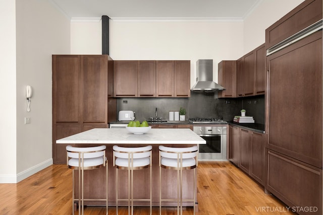
[[49,0],[70,19],[242,20],[262,0]]

